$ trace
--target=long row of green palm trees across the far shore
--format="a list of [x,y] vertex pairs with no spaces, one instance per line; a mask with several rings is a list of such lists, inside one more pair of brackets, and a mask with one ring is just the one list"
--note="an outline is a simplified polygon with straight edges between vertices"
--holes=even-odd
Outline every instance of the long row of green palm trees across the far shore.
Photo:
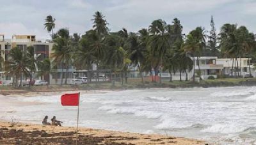
[[[188,72],[194,70],[193,81],[195,81],[196,74],[201,76],[198,63],[201,56],[232,58],[233,64],[236,64],[232,65],[232,71],[235,71],[236,76],[241,75],[237,72],[239,67],[237,58],[251,57],[254,61],[256,56],[255,35],[252,32],[249,32],[245,26],[224,24],[217,34],[213,18],[211,18],[211,31],[206,31],[204,27],[196,27],[189,34],[183,34],[183,27],[178,18],[174,18],[172,24],[166,24],[161,19],[154,20],[148,28],[138,32],[128,32],[125,28],[111,32],[104,15],[96,11],[92,19],[92,29],[83,35],[76,33],[72,36],[65,28],[54,33],[54,21],[55,18],[49,15],[45,18],[44,24],[45,29],[51,33],[54,43],[51,61],[46,59],[38,62],[36,59],[31,59],[29,56],[33,52],[29,52],[29,47],[26,51],[13,48],[9,54],[10,59],[4,63],[7,74],[22,79],[22,74],[32,76],[31,74],[36,70],[35,66],[38,66],[36,71],[40,72],[40,75],[49,74],[51,70],[58,68],[63,70],[62,85],[67,84],[67,72],[70,66],[90,70],[92,64],[95,64],[98,79],[99,69],[109,69],[113,72],[114,79],[120,74],[127,83],[129,66],[136,66],[142,83],[144,83],[143,72],[149,72],[151,76],[152,73],[155,77],[159,76],[161,83],[163,71],[170,72],[170,81],[172,81],[172,73],[179,73],[180,81],[182,81],[181,74],[185,73],[188,81],[190,79]],[[193,65],[195,61],[199,68],[197,72]],[[152,78],[152,81],[156,80],[157,78]]]

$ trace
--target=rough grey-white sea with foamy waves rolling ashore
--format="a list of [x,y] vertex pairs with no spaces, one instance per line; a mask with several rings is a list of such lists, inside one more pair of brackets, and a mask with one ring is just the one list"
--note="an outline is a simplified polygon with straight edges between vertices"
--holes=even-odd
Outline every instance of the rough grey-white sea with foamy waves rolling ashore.
[[[0,96],[0,119],[41,123],[56,116],[76,126],[77,107],[61,106],[61,92]],[[256,144],[256,87],[150,88],[81,92],[79,126]]]

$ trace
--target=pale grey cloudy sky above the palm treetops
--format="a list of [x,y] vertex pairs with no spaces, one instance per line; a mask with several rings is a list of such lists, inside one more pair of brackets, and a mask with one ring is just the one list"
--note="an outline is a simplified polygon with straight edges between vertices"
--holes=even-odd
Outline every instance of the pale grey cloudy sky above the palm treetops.
[[179,18],[188,33],[197,26],[210,29],[211,15],[217,30],[225,23],[245,25],[256,32],[256,0],[0,0],[0,34],[36,34],[49,38],[44,29],[47,15],[56,18],[56,29],[84,34],[92,28],[92,15],[102,12],[111,31],[147,28],[153,20],[168,24]]

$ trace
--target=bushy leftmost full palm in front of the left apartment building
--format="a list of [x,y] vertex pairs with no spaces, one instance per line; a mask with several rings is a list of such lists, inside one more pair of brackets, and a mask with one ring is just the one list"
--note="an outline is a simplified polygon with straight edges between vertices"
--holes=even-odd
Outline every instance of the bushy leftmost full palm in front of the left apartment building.
[[29,76],[29,59],[27,53],[15,47],[10,50],[10,59],[4,62],[6,74],[15,76],[16,80],[20,77],[20,86],[22,86],[22,75]]

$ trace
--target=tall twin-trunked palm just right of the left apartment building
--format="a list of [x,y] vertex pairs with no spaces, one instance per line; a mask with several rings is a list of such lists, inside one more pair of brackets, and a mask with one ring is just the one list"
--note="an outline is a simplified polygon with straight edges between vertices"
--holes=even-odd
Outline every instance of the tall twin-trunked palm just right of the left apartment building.
[[63,85],[63,68],[66,67],[65,84],[67,84],[68,67],[72,63],[72,42],[67,29],[60,29],[57,38],[54,39],[51,57],[55,66],[61,67],[61,85]]

